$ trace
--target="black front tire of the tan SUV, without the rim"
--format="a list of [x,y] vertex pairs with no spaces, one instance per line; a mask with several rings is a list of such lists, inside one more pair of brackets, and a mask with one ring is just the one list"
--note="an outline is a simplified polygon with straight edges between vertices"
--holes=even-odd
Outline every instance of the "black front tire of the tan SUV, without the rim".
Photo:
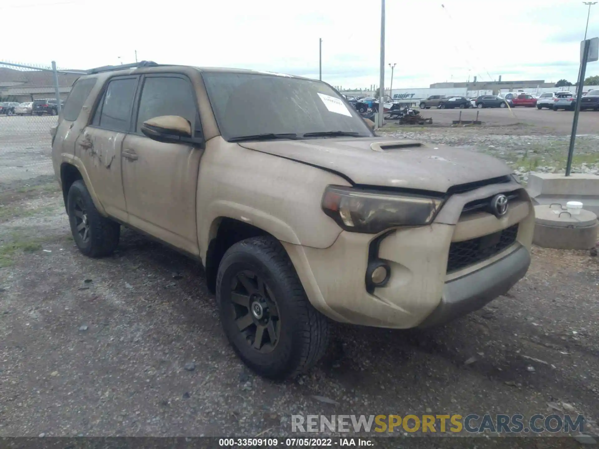
[[[245,269],[261,276],[276,298],[280,337],[267,354],[247,343],[231,313],[231,283]],[[295,377],[311,368],[326,351],[328,318],[310,304],[285,248],[273,237],[248,238],[226,251],[216,278],[216,300],[235,353],[259,375],[273,380]]]

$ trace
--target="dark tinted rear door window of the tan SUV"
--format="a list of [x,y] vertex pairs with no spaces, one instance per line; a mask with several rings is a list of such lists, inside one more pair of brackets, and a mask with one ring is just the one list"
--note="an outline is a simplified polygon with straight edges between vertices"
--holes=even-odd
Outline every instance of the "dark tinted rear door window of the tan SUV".
[[108,83],[93,116],[92,125],[128,132],[137,78],[115,78]]

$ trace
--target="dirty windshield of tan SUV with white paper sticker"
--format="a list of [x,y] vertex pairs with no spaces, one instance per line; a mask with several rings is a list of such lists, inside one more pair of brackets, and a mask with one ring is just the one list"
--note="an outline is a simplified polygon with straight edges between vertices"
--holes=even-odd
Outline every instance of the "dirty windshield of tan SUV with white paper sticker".
[[204,72],[224,139],[341,131],[372,136],[364,120],[327,84],[279,75]]

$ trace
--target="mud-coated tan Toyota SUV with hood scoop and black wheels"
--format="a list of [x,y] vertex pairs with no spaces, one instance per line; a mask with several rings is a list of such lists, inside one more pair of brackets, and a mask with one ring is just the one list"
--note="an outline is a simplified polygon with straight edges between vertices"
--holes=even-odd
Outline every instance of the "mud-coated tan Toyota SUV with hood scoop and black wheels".
[[322,81],[143,62],[81,76],[52,130],[81,253],[120,226],[199,260],[250,368],[290,377],[329,318],[444,323],[528,269],[534,216],[484,154],[376,136]]

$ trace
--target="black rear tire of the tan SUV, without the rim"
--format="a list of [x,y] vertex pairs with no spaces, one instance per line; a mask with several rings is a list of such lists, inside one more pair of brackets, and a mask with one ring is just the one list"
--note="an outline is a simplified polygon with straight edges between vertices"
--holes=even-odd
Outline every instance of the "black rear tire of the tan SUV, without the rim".
[[[89,239],[83,241],[77,232],[77,221],[75,220],[75,204],[81,199],[86,209],[89,223]],[[68,211],[69,223],[75,244],[81,253],[88,257],[109,256],[119,244],[120,225],[101,214],[93,205],[92,196],[89,195],[87,187],[81,180],[72,183],[66,198],[66,210]]]

